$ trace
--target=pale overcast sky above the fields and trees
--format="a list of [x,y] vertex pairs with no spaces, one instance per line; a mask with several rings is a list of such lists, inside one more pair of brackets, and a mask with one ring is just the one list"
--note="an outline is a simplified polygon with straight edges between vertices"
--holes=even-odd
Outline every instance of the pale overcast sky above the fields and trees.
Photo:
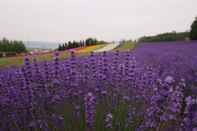
[[190,30],[197,0],[0,0],[0,38],[137,39]]

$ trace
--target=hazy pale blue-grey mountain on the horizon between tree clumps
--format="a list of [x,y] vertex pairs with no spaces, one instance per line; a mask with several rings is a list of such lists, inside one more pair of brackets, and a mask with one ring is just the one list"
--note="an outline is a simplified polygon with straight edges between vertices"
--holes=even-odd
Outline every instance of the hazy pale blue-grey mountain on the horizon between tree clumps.
[[30,49],[57,49],[60,43],[44,41],[25,41],[25,46]]

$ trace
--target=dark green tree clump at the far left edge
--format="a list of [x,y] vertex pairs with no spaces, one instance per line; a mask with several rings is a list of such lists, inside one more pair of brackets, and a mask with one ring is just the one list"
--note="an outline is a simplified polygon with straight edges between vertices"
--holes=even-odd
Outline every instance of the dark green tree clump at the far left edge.
[[6,38],[0,40],[0,57],[14,56],[19,53],[27,52],[27,49],[22,41],[11,41]]

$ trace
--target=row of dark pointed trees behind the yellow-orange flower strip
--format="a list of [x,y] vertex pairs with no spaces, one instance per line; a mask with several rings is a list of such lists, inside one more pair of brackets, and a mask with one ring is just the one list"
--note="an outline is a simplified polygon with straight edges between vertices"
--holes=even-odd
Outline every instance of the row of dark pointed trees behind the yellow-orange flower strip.
[[88,38],[86,40],[80,40],[80,41],[68,41],[63,44],[59,44],[59,47],[57,50],[63,51],[67,49],[73,49],[78,47],[85,47],[90,45],[98,45],[98,44],[105,44],[104,41],[98,41],[95,38]]

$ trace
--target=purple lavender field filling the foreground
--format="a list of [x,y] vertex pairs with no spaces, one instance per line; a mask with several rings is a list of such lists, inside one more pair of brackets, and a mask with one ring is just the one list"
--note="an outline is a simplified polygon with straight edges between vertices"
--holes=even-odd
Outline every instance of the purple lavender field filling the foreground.
[[197,41],[0,70],[0,131],[197,131]]

